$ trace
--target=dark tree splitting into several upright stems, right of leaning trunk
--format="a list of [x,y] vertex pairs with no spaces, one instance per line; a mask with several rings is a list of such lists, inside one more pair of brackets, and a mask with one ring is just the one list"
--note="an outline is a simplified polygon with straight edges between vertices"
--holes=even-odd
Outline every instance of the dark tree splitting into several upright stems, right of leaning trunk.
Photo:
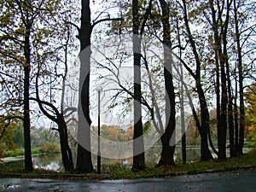
[[[218,117],[218,158],[226,158],[226,132],[227,132],[227,104],[228,104],[228,91],[227,91],[227,79],[230,83],[229,76],[229,58],[227,52],[227,33],[230,20],[230,6],[232,1],[227,1],[225,3],[218,2],[216,5],[212,0],[209,1],[209,7],[212,10],[212,31],[214,34],[214,53],[215,53],[215,63],[216,63],[216,94],[217,94],[217,117]],[[214,8],[216,6],[218,9]],[[226,6],[226,7],[225,7]],[[224,7],[226,13],[224,14]],[[223,16],[225,15],[225,16]],[[224,17],[224,19],[223,19]],[[219,101],[219,67],[220,67],[220,79],[221,79],[221,101]],[[231,96],[230,90],[229,94]],[[220,107],[219,107],[220,105]],[[229,112],[231,113],[229,102]],[[229,117],[231,117],[230,114]],[[232,119],[229,119],[230,123]],[[231,125],[231,124],[230,124]],[[230,127],[230,130],[233,127]],[[230,131],[231,133],[231,131]],[[233,143],[231,142],[230,148],[233,149]]]

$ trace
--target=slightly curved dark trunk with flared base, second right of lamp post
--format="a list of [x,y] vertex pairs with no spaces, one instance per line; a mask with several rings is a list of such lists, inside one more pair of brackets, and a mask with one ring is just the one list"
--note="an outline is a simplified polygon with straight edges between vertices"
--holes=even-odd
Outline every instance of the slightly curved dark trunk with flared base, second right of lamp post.
[[161,21],[163,24],[163,44],[164,46],[164,78],[166,87],[166,130],[160,137],[162,143],[162,152],[158,166],[173,165],[175,141],[175,91],[172,78],[172,52],[171,52],[171,30],[169,23],[169,4],[165,0],[160,0],[162,9]]

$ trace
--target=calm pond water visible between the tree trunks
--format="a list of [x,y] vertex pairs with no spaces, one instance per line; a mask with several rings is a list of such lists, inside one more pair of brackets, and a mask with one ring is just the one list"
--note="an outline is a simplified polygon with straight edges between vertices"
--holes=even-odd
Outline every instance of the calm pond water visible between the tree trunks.
[[[244,152],[247,153],[250,148],[244,148]],[[146,163],[154,163],[156,164],[159,160],[159,154],[160,154],[161,148],[160,147],[154,147],[149,148],[145,153],[145,160]],[[117,151],[115,151],[117,152]],[[111,151],[110,151],[111,153]],[[124,151],[119,151],[118,153],[125,153]],[[187,162],[200,160],[200,154],[201,150],[200,148],[187,148]],[[227,149],[227,155],[229,155],[229,149]],[[73,153],[73,156],[76,156],[75,153]],[[214,155],[216,157],[216,155]],[[93,165],[96,168],[96,155],[92,154],[92,162]],[[182,152],[180,146],[177,146],[176,152],[175,152],[175,160],[176,162],[182,162]],[[36,155],[32,157],[32,162],[34,168],[42,168],[45,170],[53,170],[55,172],[61,172],[63,171],[63,164],[61,160],[61,154],[41,154]],[[74,160],[74,162],[76,162]],[[102,158],[102,165],[110,165],[110,164],[116,164],[119,163],[121,165],[125,166],[131,166],[132,165],[132,157],[128,159],[122,159],[122,160],[113,160],[108,158]],[[10,161],[6,163],[0,163],[0,169],[2,167],[6,168],[14,168],[14,167],[24,167],[24,160],[23,158],[20,158],[20,160]]]

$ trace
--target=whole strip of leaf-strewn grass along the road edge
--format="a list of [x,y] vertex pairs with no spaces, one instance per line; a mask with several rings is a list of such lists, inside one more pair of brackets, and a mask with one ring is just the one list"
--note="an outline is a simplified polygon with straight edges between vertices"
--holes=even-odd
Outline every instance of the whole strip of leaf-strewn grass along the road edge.
[[[147,168],[144,171],[134,172],[131,171],[131,168],[121,165],[102,165],[102,173],[109,174],[110,179],[125,179],[125,178],[147,178],[147,177],[172,177],[180,174],[195,174],[202,172],[220,172],[220,171],[230,171],[236,169],[244,169],[247,167],[256,167],[256,149],[244,154],[242,156],[228,158],[227,160],[208,160],[208,161],[198,161],[189,164],[177,164],[175,166],[160,166],[155,167],[155,165],[147,165]],[[4,177],[7,177],[8,173],[30,173],[31,177],[40,177],[40,175],[47,174],[47,177],[50,178],[80,178],[80,179],[101,179],[102,177],[97,177],[92,175],[91,177],[65,177],[64,172],[52,172],[41,169],[35,169],[32,172],[25,172],[21,168],[1,170],[0,174],[4,173]],[[33,176],[33,174],[37,176]],[[20,175],[17,175],[20,177]]]

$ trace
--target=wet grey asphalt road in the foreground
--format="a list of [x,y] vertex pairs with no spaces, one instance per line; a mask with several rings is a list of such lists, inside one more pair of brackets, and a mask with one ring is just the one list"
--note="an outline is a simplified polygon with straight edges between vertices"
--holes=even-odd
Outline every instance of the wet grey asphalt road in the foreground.
[[134,180],[0,178],[0,191],[256,192],[256,170]]

